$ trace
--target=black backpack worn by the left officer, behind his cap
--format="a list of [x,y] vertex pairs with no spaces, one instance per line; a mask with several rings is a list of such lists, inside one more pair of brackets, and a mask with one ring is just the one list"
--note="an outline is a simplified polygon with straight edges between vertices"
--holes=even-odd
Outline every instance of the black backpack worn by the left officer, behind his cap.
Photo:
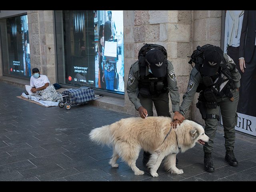
[[140,48],[139,54],[138,54],[138,60],[139,60],[139,68],[140,68],[140,76],[141,78],[144,78],[146,74],[146,63],[145,63],[145,55],[146,53],[151,50],[151,49],[158,49],[163,52],[165,56],[165,63],[167,66],[167,51],[162,45],[157,45],[157,44],[144,44],[142,48]]

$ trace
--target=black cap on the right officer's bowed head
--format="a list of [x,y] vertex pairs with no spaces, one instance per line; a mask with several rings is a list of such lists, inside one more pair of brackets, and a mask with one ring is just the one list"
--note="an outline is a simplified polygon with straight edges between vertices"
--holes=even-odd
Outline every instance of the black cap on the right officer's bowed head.
[[211,46],[204,51],[204,62],[200,66],[203,75],[213,76],[220,68],[223,59],[223,51],[218,46]]

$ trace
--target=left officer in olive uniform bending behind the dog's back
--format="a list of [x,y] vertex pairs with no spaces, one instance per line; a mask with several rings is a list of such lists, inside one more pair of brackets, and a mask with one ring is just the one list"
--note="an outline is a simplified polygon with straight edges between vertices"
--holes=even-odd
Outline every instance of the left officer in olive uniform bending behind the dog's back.
[[[179,112],[180,99],[174,68],[161,50],[152,48],[146,52],[144,68],[140,68],[140,59],[131,65],[126,90],[141,118],[153,116],[153,102],[158,116],[170,116],[170,92],[173,119],[180,122],[184,120]],[[143,156],[145,165],[150,154],[144,151]]]

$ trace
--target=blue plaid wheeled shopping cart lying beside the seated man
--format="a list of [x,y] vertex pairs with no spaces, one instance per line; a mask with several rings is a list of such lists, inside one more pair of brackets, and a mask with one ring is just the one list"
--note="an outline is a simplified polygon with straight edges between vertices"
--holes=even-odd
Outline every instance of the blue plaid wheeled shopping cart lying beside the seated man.
[[70,110],[72,105],[84,105],[90,100],[94,100],[102,97],[102,95],[95,96],[94,90],[90,87],[80,87],[78,89],[68,89],[61,94],[63,102],[59,102],[59,107],[64,107],[66,110]]

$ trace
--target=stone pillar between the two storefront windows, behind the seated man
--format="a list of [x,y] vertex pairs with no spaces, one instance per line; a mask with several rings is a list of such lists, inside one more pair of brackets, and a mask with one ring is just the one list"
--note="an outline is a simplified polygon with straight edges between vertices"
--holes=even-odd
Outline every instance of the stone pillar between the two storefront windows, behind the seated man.
[[31,69],[37,67],[56,83],[53,11],[27,11]]

